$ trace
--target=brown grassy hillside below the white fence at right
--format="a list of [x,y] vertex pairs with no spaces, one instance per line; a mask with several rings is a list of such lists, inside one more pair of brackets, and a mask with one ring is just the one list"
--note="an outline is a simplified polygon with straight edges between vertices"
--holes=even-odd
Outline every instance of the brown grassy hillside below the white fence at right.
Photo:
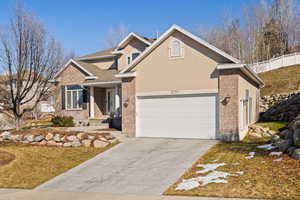
[[266,84],[261,90],[261,96],[300,90],[300,65],[275,69],[259,76]]

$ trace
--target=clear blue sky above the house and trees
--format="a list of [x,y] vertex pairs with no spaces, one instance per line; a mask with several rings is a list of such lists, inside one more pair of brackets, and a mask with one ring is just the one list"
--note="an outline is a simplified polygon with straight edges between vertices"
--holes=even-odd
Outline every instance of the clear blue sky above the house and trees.
[[[222,22],[224,13],[242,16],[246,3],[258,0],[23,0],[67,50],[84,55],[105,48],[111,27],[155,37],[172,24],[190,31]],[[0,1],[0,24],[7,24],[15,0]]]

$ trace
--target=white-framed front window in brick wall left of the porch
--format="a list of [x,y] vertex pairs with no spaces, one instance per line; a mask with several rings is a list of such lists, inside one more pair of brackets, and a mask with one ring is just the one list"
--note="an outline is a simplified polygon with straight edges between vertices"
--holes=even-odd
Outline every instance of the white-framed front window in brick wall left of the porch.
[[80,85],[66,86],[67,109],[81,109],[83,102],[83,89]]

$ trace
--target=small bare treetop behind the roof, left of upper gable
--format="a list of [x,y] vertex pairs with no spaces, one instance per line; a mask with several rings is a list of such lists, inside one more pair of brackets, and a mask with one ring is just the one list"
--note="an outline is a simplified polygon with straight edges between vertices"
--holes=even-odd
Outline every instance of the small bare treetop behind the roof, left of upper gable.
[[104,43],[107,48],[115,47],[128,35],[128,27],[119,24],[116,27],[110,27],[106,33]]

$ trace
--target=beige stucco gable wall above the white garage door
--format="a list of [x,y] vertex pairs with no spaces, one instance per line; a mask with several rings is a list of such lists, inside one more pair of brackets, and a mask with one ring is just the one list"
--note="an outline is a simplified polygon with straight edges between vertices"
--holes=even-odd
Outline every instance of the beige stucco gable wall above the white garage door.
[[[171,41],[182,42],[183,57],[170,58]],[[180,90],[217,90],[216,66],[222,59],[187,36],[174,32],[137,66],[137,93]]]

